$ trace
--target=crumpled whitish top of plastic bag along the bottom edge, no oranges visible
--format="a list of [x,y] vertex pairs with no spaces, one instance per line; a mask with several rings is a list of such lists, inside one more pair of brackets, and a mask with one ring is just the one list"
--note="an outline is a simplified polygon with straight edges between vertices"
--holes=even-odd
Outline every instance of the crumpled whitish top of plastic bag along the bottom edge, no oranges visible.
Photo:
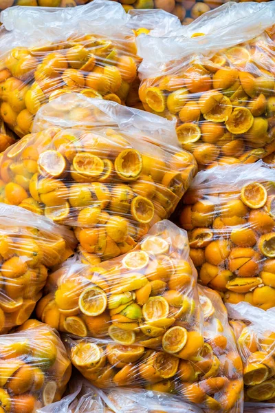
[[170,394],[140,389],[95,388],[89,381],[77,377],[70,383],[70,391],[61,401],[47,405],[38,413],[202,413],[202,410]]

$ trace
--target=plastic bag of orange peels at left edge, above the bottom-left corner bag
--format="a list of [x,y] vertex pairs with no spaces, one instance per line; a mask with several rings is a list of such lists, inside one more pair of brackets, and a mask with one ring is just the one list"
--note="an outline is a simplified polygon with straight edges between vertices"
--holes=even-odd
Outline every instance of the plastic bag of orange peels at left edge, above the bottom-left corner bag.
[[74,234],[65,227],[0,204],[0,334],[30,317],[42,297],[48,268],[72,255],[74,245]]

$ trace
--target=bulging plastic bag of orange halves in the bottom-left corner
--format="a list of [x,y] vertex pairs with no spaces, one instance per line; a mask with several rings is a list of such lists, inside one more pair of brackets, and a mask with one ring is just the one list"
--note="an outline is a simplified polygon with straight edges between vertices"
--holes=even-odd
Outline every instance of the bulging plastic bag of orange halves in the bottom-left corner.
[[0,336],[1,410],[32,413],[60,400],[71,372],[56,332],[39,321],[26,321],[18,332]]

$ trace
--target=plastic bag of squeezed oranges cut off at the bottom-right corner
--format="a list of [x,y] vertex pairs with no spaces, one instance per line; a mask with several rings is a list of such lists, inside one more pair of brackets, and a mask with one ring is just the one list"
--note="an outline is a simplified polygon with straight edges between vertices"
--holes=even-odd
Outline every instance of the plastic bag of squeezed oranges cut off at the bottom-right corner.
[[245,407],[274,407],[274,308],[264,311],[246,302],[228,304],[227,307],[243,359]]

